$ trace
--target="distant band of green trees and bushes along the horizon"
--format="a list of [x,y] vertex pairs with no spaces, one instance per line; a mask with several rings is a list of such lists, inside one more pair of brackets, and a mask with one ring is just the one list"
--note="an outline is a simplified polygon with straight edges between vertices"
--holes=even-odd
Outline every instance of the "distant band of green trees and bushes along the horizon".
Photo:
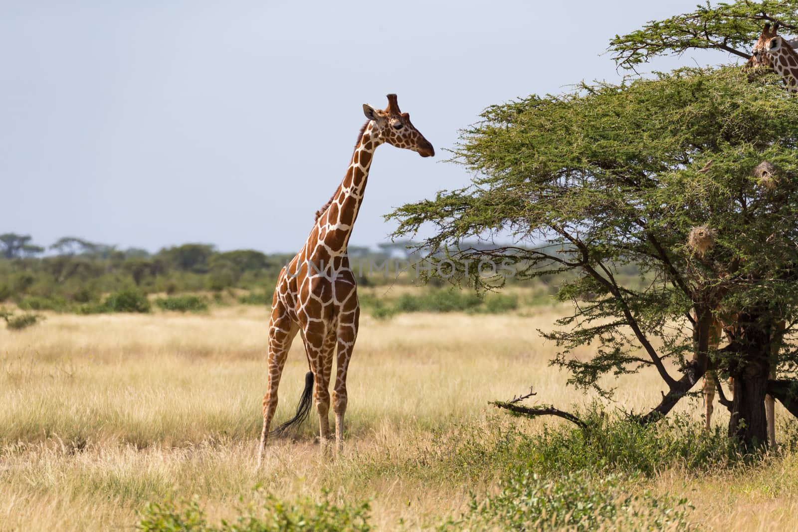
[[[378,250],[350,246],[350,265],[358,284],[420,284],[414,275],[418,258],[410,254],[411,243],[383,243]],[[264,254],[257,250],[219,251],[205,243],[164,247],[151,254],[140,248],[120,250],[74,237],[60,238],[45,248],[34,243],[30,235],[6,233],[0,234],[0,304],[13,302],[21,309],[34,311],[140,311],[149,309],[148,294],[212,292],[216,302],[233,298],[245,304],[270,305],[279,272],[292,257],[293,254]],[[638,271],[626,265],[621,274],[636,276]],[[573,280],[572,274],[570,278]],[[428,281],[433,289],[448,286],[443,278],[433,276]],[[536,300],[551,301],[567,278],[551,275],[534,281],[507,278],[505,282],[532,286]],[[428,294],[419,296],[418,301],[371,301],[373,298],[363,296],[363,304],[385,316],[414,309],[496,312],[516,306],[512,298],[483,301]],[[164,309],[180,306],[198,310],[206,308],[207,301],[211,300],[178,297],[156,300],[156,304]]]

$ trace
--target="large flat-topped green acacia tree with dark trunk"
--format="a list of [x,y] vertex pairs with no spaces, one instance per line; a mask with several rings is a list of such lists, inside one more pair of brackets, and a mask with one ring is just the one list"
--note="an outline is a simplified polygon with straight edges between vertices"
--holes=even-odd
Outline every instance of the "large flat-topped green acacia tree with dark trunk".
[[[436,234],[421,246],[470,265],[460,280],[476,286],[486,282],[478,269],[486,258],[516,262],[521,278],[570,274],[559,298],[574,301],[574,312],[544,333],[570,384],[611,396],[602,376],[658,372],[666,392],[636,417],[647,423],[722,369],[736,378],[724,401],[729,434],[766,443],[765,392],[798,412],[792,381],[768,382],[771,346],[782,341],[772,325],[784,319],[791,329],[798,304],[796,112],[776,77],[751,83],[738,68],[494,105],[454,149],[453,160],[475,173],[472,185],[389,217],[397,237],[432,224]],[[753,173],[765,160],[778,169],[776,187]],[[694,227],[715,234],[704,254],[688,245]],[[508,233],[516,245],[456,248]],[[628,265],[639,278],[618,276]],[[711,351],[710,323],[724,306],[741,309],[737,333]],[[588,343],[598,346],[589,360],[570,356]],[[788,376],[796,361],[785,346],[776,363]]]

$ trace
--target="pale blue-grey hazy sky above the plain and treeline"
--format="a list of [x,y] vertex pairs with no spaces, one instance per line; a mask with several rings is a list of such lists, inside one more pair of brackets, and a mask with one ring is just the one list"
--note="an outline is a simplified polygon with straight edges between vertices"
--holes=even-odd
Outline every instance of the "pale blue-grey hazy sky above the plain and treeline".
[[[393,207],[468,183],[440,161],[483,108],[618,81],[610,37],[696,3],[2,0],[0,233],[298,250],[361,104],[397,93],[437,156],[377,150],[351,240],[373,245]],[[696,61],[733,58],[651,68]]]

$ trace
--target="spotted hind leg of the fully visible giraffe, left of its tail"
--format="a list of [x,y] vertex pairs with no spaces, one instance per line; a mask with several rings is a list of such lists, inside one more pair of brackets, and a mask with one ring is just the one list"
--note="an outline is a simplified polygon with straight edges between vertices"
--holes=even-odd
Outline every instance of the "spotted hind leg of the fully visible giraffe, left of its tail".
[[266,443],[269,435],[269,426],[275,416],[277,409],[277,388],[282,376],[282,368],[286,364],[286,357],[294,341],[298,327],[288,317],[285,307],[278,300],[275,293],[275,300],[272,304],[271,317],[269,318],[269,376],[266,395],[263,396],[263,430],[260,433],[260,445],[258,447],[258,467],[263,463],[263,455],[266,452]]

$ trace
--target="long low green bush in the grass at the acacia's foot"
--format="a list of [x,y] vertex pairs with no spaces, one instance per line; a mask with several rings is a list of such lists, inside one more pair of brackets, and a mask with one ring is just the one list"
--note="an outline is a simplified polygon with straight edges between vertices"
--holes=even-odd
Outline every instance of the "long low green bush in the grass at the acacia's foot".
[[[706,432],[685,414],[641,425],[625,416],[607,415],[598,405],[577,413],[587,424],[584,431],[574,424],[555,422],[528,435],[496,422],[492,428],[475,429],[471,439],[442,442],[440,447],[448,449],[452,467],[468,464],[469,470],[477,472],[509,474],[523,465],[549,477],[562,471],[648,477],[672,467],[710,471],[756,459],[742,454],[720,427]],[[519,419],[519,424],[523,423]]]

